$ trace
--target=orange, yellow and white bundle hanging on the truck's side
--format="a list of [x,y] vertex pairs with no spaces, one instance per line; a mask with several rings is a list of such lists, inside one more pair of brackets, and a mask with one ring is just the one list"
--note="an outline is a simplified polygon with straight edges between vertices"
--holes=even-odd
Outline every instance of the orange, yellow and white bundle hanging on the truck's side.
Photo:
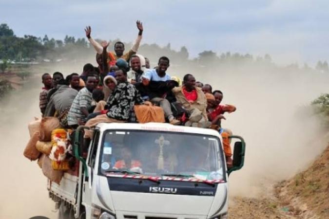
[[69,141],[69,132],[63,128],[54,129],[52,131],[52,149],[49,158],[52,160],[52,167],[55,170],[68,170],[69,163],[66,159],[67,153],[71,151],[71,143]]

